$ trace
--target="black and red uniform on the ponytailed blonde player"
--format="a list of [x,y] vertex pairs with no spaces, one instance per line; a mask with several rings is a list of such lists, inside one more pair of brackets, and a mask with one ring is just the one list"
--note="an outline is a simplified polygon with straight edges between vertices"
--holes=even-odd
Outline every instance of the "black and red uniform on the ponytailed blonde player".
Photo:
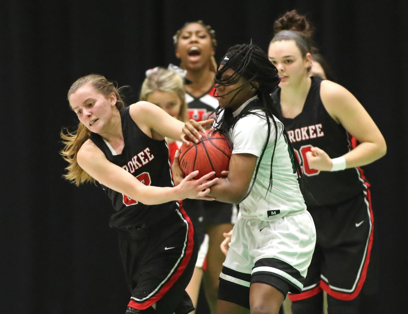
[[[91,140],[114,164],[145,185],[173,186],[165,140],[153,140],[129,114],[120,111],[124,148],[117,155],[92,133]],[[197,249],[193,226],[177,201],[145,205],[102,185],[115,214],[109,225],[119,232],[120,252],[132,297],[127,313],[186,314],[193,310],[185,288],[191,279]]]

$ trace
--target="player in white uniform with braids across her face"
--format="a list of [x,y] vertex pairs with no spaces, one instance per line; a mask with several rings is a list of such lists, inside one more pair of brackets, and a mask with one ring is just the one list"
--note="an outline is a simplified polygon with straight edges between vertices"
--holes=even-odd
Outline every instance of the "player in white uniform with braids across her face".
[[[214,125],[231,136],[233,152],[228,177],[211,196],[239,203],[241,212],[220,274],[217,314],[279,313],[289,291],[301,292],[315,248],[299,163],[270,97],[279,80],[253,44],[231,47],[215,76],[220,108]],[[193,138],[197,129],[204,130],[190,120],[183,130]]]

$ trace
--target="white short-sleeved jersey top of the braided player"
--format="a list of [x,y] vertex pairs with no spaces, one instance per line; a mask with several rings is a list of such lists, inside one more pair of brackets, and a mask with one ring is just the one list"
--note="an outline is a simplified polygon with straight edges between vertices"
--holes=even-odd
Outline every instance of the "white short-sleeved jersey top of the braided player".
[[[249,102],[257,99],[257,96],[245,102],[233,112],[234,116],[244,109]],[[233,141],[233,154],[251,154],[259,157],[266,142],[268,125],[264,111],[254,109],[259,114],[249,114],[239,119],[229,134]],[[306,211],[306,205],[302,192],[299,188],[297,173],[294,171],[289,147],[283,134],[284,126],[275,116],[278,135],[273,157],[272,187],[268,191],[271,174],[271,159],[273,146],[275,145],[275,126],[271,121],[271,134],[264,156],[262,157],[255,184],[247,198],[239,204],[242,218],[257,218],[265,221],[276,221],[284,216],[300,214]],[[249,127],[248,127],[249,126]],[[255,172],[254,172],[255,176]],[[252,181],[254,179],[252,177]]]

